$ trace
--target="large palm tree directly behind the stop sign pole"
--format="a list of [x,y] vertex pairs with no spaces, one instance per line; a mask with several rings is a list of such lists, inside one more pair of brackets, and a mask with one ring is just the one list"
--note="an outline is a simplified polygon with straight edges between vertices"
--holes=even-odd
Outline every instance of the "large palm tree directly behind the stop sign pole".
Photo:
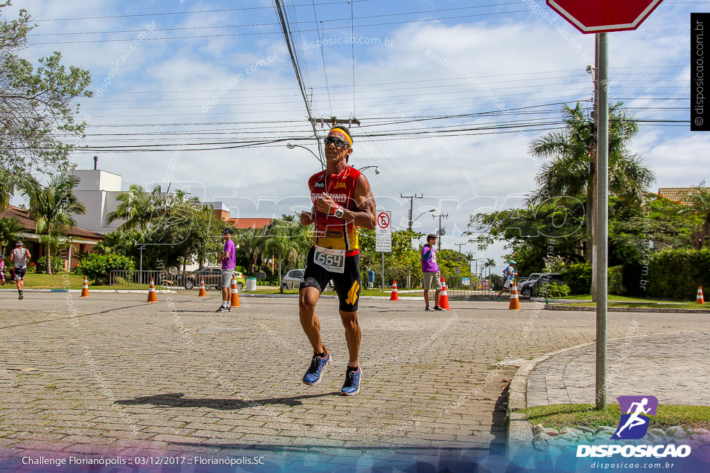
[[[638,124],[622,109],[622,103],[609,104],[609,191],[622,199],[637,200],[655,181],[645,159],[633,154],[628,143],[638,133]],[[549,161],[535,177],[538,189],[528,204],[568,196],[586,200],[586,247],[591,247],[594,204],[594,121],[581,104],[562,111],[564,130],[554,131],[530,143],[530,153]],[[586,258],[591,259],[589,251]]]

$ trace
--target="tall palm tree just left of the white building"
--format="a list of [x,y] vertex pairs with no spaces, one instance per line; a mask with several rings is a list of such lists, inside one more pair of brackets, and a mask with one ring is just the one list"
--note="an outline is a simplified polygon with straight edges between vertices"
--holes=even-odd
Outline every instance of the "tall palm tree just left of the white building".
[[74,188],[80,179],[73,174],[60,173],[50,177],[46,187],[30,179],[25,184],[23,195],[30,201],[30,216],[35,221],[40,241],[47,247],[47,273],[52,274],[52,246],[59,243],[65,228],[73,228],[77,221],[73,216],[86,213],[87,208],[77,199]]

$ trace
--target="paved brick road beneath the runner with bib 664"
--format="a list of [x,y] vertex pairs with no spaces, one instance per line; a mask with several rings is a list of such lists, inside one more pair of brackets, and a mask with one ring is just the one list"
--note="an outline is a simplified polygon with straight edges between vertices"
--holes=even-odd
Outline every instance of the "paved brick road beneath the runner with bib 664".
[[[311,351],[296,299],[242,297],[227,315],[214,313],[216,296],[145,297],[30,292],[17,301],[0,292],[3,455],[487,452],[505,441],[501,392],[516,369],[500,363],[590,342],[595,330],[594,313],[532,303],[508,311],[502,302],[452,302],[452,311],[427,313],[418,300],[364,300],[364,384],[343,397],[347,354],[334,299],[318,311],[334,364],[309,387],[300,382]],[[704,315],[610,313],[609,338],[625,336],[632,320],[635,335],[707,327]]]

